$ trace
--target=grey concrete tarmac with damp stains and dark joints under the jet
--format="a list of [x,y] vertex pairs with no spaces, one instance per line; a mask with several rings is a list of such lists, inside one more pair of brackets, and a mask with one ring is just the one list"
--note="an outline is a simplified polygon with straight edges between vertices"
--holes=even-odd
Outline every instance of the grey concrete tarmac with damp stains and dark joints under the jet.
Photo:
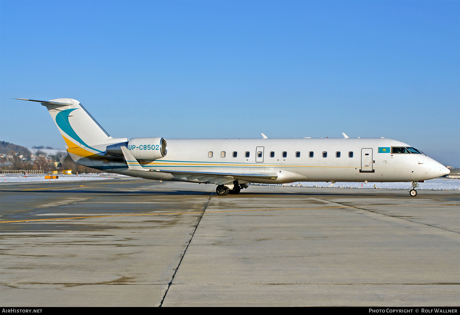
[[1,306],[459,306],[460,192],[0,185]]

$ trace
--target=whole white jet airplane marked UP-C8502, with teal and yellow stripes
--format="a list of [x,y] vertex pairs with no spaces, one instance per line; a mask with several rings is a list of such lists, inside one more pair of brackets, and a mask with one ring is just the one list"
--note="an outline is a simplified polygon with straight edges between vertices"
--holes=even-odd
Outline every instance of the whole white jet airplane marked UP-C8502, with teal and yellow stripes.
[[61,132],[77,164],[159,181],[216,184],[220,196],[248,183],[293,181],[411,181],[449,169],[406,143],[385,138],[170,139],[112,138],[75,99],[39,102]]

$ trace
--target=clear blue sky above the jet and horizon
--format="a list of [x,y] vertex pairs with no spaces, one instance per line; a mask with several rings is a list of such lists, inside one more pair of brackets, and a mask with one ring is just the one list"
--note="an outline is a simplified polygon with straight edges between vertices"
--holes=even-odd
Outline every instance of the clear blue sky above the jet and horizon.
[[385,137],[460,166],[459,1],[0,1],[0,140]]

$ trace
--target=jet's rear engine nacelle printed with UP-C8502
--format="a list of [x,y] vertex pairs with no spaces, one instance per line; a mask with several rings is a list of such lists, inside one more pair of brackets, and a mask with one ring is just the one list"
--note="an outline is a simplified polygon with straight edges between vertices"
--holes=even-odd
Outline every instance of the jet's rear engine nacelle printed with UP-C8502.
[[132,138],[128,150],[138,160],[156,160],[168,151],[165,138]]

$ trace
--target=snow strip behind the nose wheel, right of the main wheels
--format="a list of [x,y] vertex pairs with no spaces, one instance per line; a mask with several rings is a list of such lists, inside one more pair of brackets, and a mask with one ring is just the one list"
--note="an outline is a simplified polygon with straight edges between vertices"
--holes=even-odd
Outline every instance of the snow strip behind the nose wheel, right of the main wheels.
[[[297,181],[289,184],[272,185],[272,184],[253,184],[253,185],[270,185],[270,186],[291,186],[291,187],[320,187],[320,188],[385,188],[385,189],[409,189],[410,182],[393,182],[393,183],[357,183],[357,182],[336,182],[332,187],[330,182],[325,181]],[[374,187],[375,185],[375,187]],[[419,183],[417,189],[426,190],[460,190],[460,181],[452,178],[435,178],[423,183]]]

